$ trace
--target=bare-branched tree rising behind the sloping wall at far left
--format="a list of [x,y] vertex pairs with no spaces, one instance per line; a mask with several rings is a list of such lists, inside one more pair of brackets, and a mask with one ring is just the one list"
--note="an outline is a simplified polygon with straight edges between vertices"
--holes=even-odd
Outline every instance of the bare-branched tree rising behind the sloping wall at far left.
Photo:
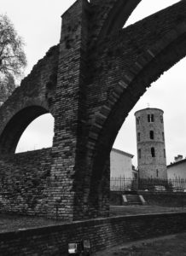
[[[22,38],[7,15],[0,15],[0,85],[15,89],[15,79],[26,67],[26,55]],[[11,83],[10,83],[11,82]]]

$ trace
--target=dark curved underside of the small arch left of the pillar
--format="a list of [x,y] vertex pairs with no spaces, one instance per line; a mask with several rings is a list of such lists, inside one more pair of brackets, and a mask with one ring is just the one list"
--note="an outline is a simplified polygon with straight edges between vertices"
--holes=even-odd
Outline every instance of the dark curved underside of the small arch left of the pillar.
[[0,135],[0,154],[14,154],[26,127],[44,113],[49,113],[49,109],[41,105],[31,105],[15,113],[4,125]]

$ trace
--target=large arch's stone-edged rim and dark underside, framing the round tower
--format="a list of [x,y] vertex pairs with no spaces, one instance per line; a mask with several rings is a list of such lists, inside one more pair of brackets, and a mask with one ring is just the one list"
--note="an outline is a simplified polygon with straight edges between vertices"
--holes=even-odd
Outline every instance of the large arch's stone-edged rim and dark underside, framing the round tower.
[[183,22],[143,52],[96,114],[88,145],[93,159],[94,185],[95,180],[102,178],[102,170],[107,164],[114,140],[131,108],[151,83],[183,59],[186,55],[185,45],[186,23]]

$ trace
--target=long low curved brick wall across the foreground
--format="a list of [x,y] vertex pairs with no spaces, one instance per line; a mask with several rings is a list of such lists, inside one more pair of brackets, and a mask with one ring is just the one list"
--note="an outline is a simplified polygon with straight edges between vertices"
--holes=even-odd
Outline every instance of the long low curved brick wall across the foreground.
[[92,251],[186,231],[186,213],[99,218],[0,233],[0,255],[67,255],[67,243],[90,239]]

